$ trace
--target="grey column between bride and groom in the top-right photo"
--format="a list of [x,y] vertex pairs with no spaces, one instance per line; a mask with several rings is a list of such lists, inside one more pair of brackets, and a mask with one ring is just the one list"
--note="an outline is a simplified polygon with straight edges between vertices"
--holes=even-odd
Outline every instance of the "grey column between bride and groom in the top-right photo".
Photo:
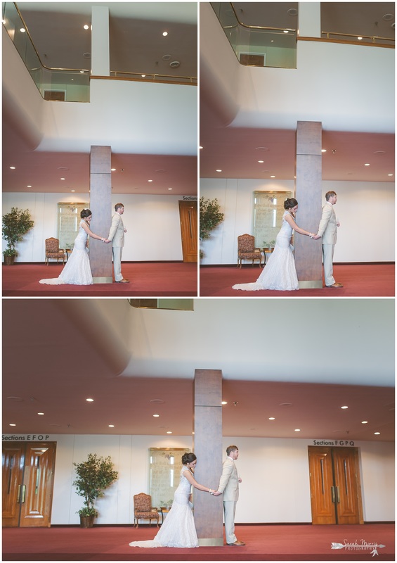
[[[299,208],[297,224],[316,233],[321,218],[322,153],[321,122],[298,121],[295,197]],[[321,239],[295,233],[295,265],[300,288],[323,287]]]

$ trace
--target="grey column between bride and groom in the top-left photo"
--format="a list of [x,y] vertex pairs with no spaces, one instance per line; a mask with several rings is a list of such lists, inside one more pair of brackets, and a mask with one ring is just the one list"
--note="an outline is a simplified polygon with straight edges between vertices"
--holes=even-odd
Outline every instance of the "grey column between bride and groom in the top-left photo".
[[[106,238],[112,223],[112,151],[110,146],[91,146],[90,209],[91,230]],[[112,243],[90,239],[90,263],[94,284],[112,283]]]

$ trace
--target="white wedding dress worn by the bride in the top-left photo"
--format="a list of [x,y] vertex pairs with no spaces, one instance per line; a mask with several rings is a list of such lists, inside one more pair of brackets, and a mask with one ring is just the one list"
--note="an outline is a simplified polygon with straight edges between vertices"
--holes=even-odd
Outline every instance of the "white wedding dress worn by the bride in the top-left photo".
[[58,286],[62,284],[73,284],[77,286],[89,286],[93,284],[91,266],[89,260],[89,250],[86,247],[88,234],[80,222],[79,232],[74,240],[73,252],[67,260],[65,267],[60,272],[59,277],[41,279],[40,284]]

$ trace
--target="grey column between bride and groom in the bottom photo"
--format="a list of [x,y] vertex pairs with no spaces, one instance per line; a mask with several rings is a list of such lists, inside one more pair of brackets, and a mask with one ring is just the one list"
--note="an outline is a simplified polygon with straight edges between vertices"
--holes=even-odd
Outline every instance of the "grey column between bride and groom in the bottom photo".
[[[195,369],[194,450],[197,455],[195,479],[209,488],[218,488],[222,473],[222,372]],[[195,490],[195,526],[200,545],[223,545],[222,495],[214,497]]]

